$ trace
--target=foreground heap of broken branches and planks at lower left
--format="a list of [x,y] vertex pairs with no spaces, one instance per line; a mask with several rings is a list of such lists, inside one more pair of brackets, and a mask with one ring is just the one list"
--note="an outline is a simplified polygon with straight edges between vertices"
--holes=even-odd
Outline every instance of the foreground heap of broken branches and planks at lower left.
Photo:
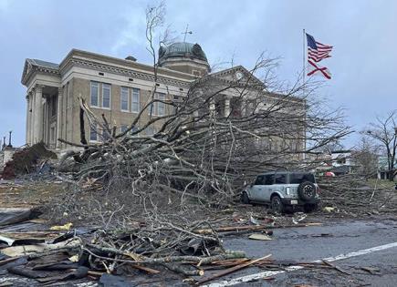
[[130,231],[82,232],[69,230],[71,226],[17,234],[1,231],[0,269],[48,284],[99,280],[107,274],[134,278],[144,274],[164,281],[163,274],[169,271],[178,274],[180,281],[190,276],[203,278],[204,272],[211,274],[211,270],[227,270],[241,263],[245,263],[240,267],[244,268],[250,265],[246,261],[251,261],[242,251],[225,251],[208,222],[189,226],[159,222]]

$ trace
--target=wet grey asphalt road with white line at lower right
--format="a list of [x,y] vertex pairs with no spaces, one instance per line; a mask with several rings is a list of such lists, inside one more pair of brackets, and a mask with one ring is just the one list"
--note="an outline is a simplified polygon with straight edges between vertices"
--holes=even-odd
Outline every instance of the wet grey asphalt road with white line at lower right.
[[[206,286],[397,286],[396,219],[336,220],[322,226],[276,229],[273,238],[229,238],[225,247],[255,258],[272,254],[275,260],[292,264],[327,259],[343,272],[290,267],[277,273],[255,267]],[[361,267],[372,268],[373,274]]]

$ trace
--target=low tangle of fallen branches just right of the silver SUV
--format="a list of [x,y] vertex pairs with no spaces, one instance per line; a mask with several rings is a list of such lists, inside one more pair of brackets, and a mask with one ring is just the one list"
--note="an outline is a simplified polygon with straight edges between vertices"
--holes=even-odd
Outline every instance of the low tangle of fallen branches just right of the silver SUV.
[[350,174],[319,179],[323,210],[352,214],[395,212],[395,190],[370,186],[366,179]]

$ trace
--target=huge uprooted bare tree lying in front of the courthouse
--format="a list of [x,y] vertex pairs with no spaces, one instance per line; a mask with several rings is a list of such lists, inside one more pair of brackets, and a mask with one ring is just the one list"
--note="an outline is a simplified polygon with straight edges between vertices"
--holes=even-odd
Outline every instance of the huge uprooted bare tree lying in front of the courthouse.
[[[130,126],[123,131],[111,126],[80,97],[80,143],[58,138],[81,150],[68,153],[60,169],[70,167],[78,188],[102,190],[89,204],[106,203],[106,209],[112,206],[109,214],[132,212],[126,207],[131,201],[150,214],[167,206],[186,209],[189,202],[222,205],[258,172],[310,169],[316,163],[311,155],[350,133],[342,112],[315,95],[318,83],[298,79],[286,87],[273,76],[277,60],[264,56],[250,70],[239,67],[241,78],[208,74],[193,81],[184,97],[170,92],[159,97],[152,35],[163,15],[161,8],[147,12],[154,80]],[[155,116],[159,105],[166,112]],[[86,122],[97,130],[100,143],[87,142]]]

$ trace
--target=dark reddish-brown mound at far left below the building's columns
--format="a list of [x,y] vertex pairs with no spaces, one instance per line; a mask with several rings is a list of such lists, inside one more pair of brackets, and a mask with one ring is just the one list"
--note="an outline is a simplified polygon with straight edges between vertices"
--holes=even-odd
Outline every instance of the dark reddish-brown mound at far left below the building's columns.
[[[43,142],[18,150],[13,155],[13,159],[5,163],[2,178],[15,179],[16,176],[31,173],[37,170],[37,164],[40,162],[40,159],[44,159],[42,162],[44,165],[47,159],[57,159],[57,155],[48,150]],[[38,169],[41,167],[42,165]]]

